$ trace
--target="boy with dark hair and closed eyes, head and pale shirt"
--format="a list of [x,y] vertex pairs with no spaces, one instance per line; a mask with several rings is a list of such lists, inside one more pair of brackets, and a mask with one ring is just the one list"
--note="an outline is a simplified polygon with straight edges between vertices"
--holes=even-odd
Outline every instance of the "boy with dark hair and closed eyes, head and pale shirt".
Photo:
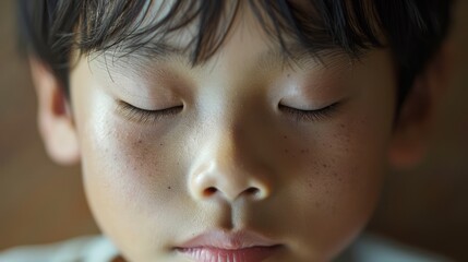
[[46,147],[81,163],[106,236],[43,260],[376,260],[367,240],[343,251],[388,159],[424,153],[449,1],[21,10]]

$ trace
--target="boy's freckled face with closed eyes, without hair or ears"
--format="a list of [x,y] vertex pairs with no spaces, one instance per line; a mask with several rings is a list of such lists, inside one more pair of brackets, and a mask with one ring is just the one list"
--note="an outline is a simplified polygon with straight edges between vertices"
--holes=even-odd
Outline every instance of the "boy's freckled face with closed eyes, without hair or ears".
[[71,73],[86,194],[130,261],[326,261],[374,209],[396,104],[388,51],[284,63],[242,17],[200,67],[109,55]]

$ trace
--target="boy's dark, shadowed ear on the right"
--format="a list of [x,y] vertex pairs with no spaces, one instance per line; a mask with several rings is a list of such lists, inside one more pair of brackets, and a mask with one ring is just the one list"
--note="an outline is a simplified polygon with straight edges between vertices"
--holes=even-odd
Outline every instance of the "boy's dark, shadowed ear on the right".
[[437,108],[449,85],[451,45],[445,43],[425,70],[416,78],[397,118],[389,146],[389,163],[407,169],[425,156]]

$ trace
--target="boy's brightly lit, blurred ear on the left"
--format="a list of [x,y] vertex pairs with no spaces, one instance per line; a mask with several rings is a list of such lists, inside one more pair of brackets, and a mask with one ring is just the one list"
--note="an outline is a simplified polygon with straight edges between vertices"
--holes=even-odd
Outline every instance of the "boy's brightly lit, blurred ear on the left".
[[39,132],[49,156],[63,165],[80,160],[80,148],[73,117],[60,81],[39,60],[29,60],[38,100]]

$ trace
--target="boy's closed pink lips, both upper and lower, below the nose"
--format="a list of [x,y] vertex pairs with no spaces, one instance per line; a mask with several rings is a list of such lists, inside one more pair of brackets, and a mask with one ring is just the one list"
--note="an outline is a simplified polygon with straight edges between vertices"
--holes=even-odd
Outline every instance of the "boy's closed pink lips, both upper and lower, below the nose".
[[251,231],[208,231],[176,248],[196,262],[260,262],[281,245]]

